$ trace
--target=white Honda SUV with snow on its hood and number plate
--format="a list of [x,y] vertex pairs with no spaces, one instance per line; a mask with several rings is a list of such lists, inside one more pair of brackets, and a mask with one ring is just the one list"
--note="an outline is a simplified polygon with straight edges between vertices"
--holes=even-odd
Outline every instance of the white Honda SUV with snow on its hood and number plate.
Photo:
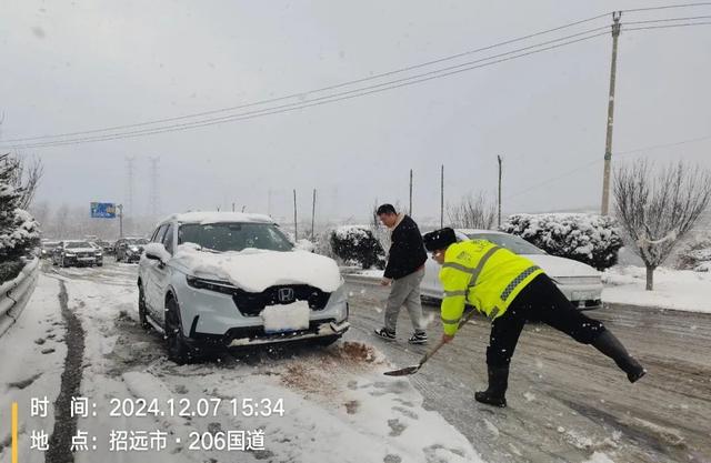
[[209,346],[329,344],[350,326],[336,261],[294,249],[269,217],[172,215],[144,250],[140,321],[164,332],[177,362]]

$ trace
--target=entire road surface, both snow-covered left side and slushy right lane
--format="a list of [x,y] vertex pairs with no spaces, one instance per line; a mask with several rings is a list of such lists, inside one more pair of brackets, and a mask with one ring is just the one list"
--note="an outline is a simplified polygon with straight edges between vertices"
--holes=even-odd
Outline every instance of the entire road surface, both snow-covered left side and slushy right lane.
[[[371,336],[387,295],[380,286],[349,283],[353,328],[332,348],[223,355],[177,366],[166,360],[161,338],[136,321],[136,265],[46,270],[29,309],[0,339],[2,463],[10,461],[11,401],[21,404],[24,417],[22,463],[63,463],[59,440],[72,426],[98,436],[88,442],[98,450],[77,452],[77,462],[144,462],[144,452],[109,452],[111,430],[157,429],[170,435],[162,452],[148,454],[157,463],[478,462],[479,455],[488,462],[711,461],[709,315],[629,306],[595,312],[650,370],[635,385],[591,348],[545,326],[528,326],[513,360],[510,406],[493,410],[472,397],[485,380],[489,325],[482,319],[417,375],[382,375],[417,362],[425,348],[407,344],[404,311],[398,343]],[[438,316],[429,309],[435,336]],[[81,330],[72,328],[72,314]],[[83,349],[82,359],[67,358],[68,344],[70,353]],[[97,416],[28,416],[30,397],[48,395],[54,403],[60,391],[71,393],[76,378],[81,394],[97,404]],[[284,415],[233,415],[228,404],[234,396],[283,399]],[[111,397],[154,397],[163,404],[171,397],[220,400],[221,409],[214,416],[112,417]],[[54,430],[46,453],[29,451],[31,431],[39,429]],[[264,430],[266,444],[239,452],[237,460],[234,453],[189,449],[191,432],[210,434],[202,445],[228,430]]]

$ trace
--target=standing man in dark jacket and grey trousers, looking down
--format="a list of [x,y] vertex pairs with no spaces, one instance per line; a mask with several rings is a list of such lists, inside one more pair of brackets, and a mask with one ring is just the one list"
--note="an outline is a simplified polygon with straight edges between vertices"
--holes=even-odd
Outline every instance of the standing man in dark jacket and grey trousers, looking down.
[[424,276],[427,251],[418,224],[405,214],[398,214],[392,204],[378,208],[378,218],[391,230],[388,265],[380,284],[392,284],[385,306],[385,326],[375,330],[380,338],[393,341],[400,308],[404,304],[410,313],[414,333],[411,344],[427,343],[425,324],[422,319],[420,283]]

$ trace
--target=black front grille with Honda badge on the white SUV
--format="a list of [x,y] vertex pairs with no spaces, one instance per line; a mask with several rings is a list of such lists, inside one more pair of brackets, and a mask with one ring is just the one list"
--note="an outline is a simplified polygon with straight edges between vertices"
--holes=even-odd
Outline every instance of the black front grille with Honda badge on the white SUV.
[[[281,290],[293,291],[293,298],[286,301],[280,299]],[[311,310],[323,310],[330,295],[330,293],[308,284],[292,284],[270,286],[259,293],[237,290],[232,299],[242,315],[257,316],[268,305],[290,304],[296,301],[308,301]]]

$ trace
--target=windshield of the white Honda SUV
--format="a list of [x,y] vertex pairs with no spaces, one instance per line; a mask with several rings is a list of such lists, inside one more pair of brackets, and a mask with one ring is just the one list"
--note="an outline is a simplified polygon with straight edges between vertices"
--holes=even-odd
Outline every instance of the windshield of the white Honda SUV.
[[271,223],[184,223],[178,230],[178,244],[183,243],[196,243],[214,251],[293,249],[287,236]]

